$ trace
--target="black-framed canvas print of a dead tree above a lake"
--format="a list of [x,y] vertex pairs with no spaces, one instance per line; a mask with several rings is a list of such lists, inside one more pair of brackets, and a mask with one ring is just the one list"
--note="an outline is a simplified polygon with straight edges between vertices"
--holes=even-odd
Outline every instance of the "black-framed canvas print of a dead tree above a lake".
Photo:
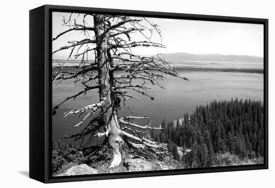
[[268,20],[29,11],[29,176],[268,168]]

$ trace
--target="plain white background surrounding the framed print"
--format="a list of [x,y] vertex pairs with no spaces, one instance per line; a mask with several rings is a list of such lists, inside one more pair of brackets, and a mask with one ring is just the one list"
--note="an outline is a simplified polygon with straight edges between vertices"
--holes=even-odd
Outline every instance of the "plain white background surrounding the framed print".
[[[0,187],[273,187],[274,35],[272,0],[3,0],[0,10]],[[269,169],[42,184],[28,173],[28,10],[42,4],[269,19]]]

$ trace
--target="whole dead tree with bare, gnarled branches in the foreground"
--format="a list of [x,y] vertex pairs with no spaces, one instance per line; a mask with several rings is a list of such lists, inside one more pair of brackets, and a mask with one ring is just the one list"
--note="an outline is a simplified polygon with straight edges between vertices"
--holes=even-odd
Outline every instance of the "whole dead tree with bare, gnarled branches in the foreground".
[[[144,17],[104,15],[104,14],[78,14],[72,18],[63,17],[63,25],[67,30],[56,35],[52,40],[57,40],[68,32],[79,32],[84,38],[77,41],[68,41],[68,45],[54,49],[57,51],[69,49],[68,59],[79,59],[75,65],[75,71],[65,71],[67,60],[53,67],[52,82],[64,79],[73,79],[81,82],[84,89],[75,95],[68,96],[53,107],[53,114],[59,105],[69,99],[75,99],[81,94],[91,90],[98,90],[99,101],[87,101],[87,105],[80,109],[72,109],[64,113],[64,116],[78,114],[81,120],[74,126],[83,124],[97,110],[98,115],[89,122],[83,130],[69,136],[74,139],[82,139],[87,136],[91,140],[94,136],[104,136],[107,140],[112,156],[110,167],[117,166],[123,155],[123,145],[136,148],[147,156],[159,157],[166,152],[163,145],[157,144],[147,135],[148,129],[161,129],[161,126],[151,126],[147,115],[119,116],[120,104],[126,100],[141,98],[133,92],[154,99],[145,92],[150,89],[148,84],[159,85],[158,80],[167,76],[180,77],[170,62],[160,55],[141,56],[134,54],[135,47],[165,47],[161,42],[152,42],[151,36],[156,33],[160,36],[159,26],[151,23]],[[87,17],[93,23],[87,22]],[[80,21],[79,21],[80,19]],[[93,26],[90,26],[93,25]],[[91,34],[92,33],[92,34]],[[132,35],[140,34],[144,40],[133,41]],[[150,35],[150,36],[149,36]],[[94,61],[89,61],[89,55],[94,55]],[[187,80],[186,77],[181,77]],[[133,80],[140,80],[134,84]],[[91,104],[88,104],[90,103]],[[134,119],[148,120],[145,125],[135,123]],[[101,130],[101,132],[100,132]],[[142,135],[143,136],[137,136]]]

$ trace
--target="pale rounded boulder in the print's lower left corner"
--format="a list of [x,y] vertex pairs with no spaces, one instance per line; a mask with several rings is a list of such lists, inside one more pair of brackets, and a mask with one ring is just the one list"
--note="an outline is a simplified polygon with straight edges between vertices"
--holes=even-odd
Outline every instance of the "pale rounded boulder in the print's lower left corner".
[[64,176],[64,175],[85,175],[85,174],[95,174],[98,173],[96,169],[89,167],[87,164],[79,164],[72,166],[62,173],[59,173],[55,176]]

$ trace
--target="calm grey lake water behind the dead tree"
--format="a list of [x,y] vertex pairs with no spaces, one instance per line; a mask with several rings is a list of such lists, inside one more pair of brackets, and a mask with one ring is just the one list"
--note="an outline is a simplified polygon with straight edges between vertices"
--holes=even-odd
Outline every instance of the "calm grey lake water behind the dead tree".
[[[206,104],[210,100],[228,100],[231,97],[238,99],[263,100],[263,74],[243,73],[243,72],[209,72],[209,71],[186,71],[179,72],[181,76],[186,76],[190,81],[180,78],[169,77],[159,83],[166,89],[152,86],[147,93],[154,96],[154,100],[142,97],[142,100],[127,100],[126,104],[139,116],[147,114],[150,117],[151,126],[158,126],[163,117],[166,121],[174,120],[183,116],[185,112],[189,114],[199,104]],[[137,82],[138,83],[138,82]],[[61,102],[67,96],[81,90],[80,85],[72,84],[72,80],[64,80],[56,85],[52,84],[53,105]],[[92,90],[86,95],[78,96],[75,100],[68,100],[62,104],[52,116],[52,136],[60,138],[79,132],[83,123],[79,127],[73,127],[80,121],[76,115],[64,118],[63,112],[71,108],[81,108],[88,104],[98,102],[97,90]],[[119,116],[130,115],[131,112],[123,107],[118,112]],[[135,114],[134,114],[135,115]]]

